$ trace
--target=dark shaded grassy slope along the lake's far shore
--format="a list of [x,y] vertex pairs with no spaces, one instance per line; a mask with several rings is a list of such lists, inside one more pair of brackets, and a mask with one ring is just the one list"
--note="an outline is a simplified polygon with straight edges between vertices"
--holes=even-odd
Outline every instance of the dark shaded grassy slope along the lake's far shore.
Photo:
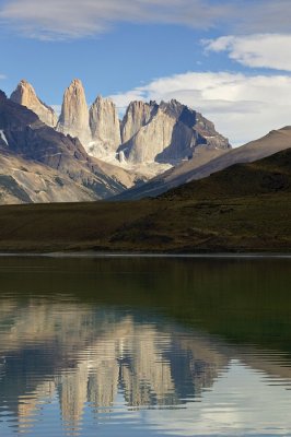
[[0,250],[291,251],[291,150],[137,202],[0,208]]

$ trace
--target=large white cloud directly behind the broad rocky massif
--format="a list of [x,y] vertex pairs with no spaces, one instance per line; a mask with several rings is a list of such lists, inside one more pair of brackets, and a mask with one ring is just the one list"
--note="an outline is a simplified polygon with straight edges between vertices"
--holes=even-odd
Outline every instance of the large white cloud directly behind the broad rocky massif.
[[132,99],[177,101],[201,111],[238,145],[291,125],[291,76],[188,72],[161,78],[110,96],[117,106]]

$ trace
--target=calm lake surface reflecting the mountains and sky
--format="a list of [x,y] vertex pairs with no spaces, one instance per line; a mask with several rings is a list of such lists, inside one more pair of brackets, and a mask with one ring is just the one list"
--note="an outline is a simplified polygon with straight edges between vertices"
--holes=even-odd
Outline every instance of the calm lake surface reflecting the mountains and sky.
[[291,260],[0,259],[0,435],[291,436]]

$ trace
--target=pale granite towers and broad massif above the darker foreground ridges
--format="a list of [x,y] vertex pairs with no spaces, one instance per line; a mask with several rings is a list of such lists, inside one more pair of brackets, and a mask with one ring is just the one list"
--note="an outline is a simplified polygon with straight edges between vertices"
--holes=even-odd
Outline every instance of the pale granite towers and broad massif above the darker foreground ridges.
[[[30,98],[18,97],[22,88]],[[26,82],[19,85],[13,98],[21,104],[26,102],[47,125],[55,122],[44,116],[47,107]],[[131,102],[121,121],[115,104],[107,98],[98,96],[89,108],[78,79],[65,92],[56,130],[78,138],[89,155],[135,170],[142,179],[195,160],[198,146],[208,151],[231,149],[211,121],[177,101],[160,105]]]

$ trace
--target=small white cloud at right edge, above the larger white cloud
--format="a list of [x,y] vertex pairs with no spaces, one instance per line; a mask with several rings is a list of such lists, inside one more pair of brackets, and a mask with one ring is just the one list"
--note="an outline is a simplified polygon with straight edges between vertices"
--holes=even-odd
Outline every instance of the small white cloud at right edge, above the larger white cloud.
[[207,51],[226,51],[244,66],[291,71],[291,35],[222,36],[205,42]]

